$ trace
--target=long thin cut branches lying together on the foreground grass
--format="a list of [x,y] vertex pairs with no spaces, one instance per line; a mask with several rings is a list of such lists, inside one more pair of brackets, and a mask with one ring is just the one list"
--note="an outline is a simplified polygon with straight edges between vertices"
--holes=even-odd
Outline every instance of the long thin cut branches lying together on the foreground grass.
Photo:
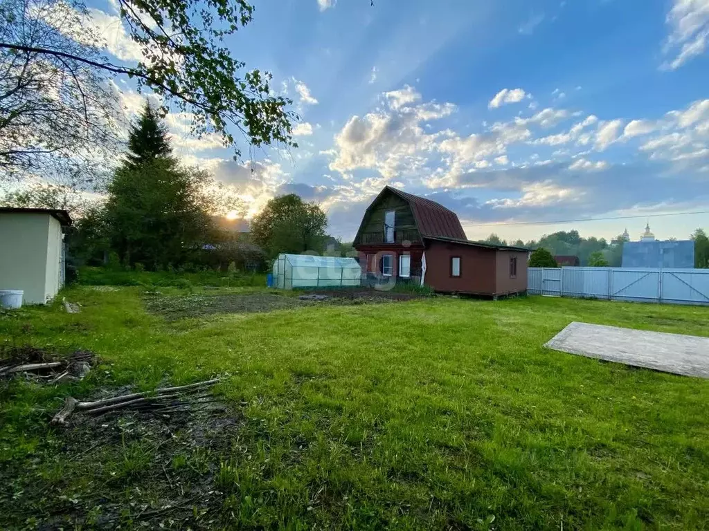
[[[206,387],[211,387],[219,382],[218,378],[197,382],[195,384],[181,385],[179,387],[163,387],[143,393],[123,394],[112,398],[91,402],[79,402],[71,396],[67,397],[64,407],[54,418],[52,424],[65,426],[67,418],[74,411],[83,411],[91,416],[101,416],[118,410],[150,411],[151,413],[177,413],[188,411],[194,401],[199,404],[208,404],[211,394],[205,393]],[[189,397],[189,400],[187,399]]]

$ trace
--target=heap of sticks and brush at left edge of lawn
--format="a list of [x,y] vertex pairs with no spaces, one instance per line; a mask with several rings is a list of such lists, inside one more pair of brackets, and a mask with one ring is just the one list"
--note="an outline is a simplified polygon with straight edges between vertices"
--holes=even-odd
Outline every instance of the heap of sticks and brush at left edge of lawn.
[[46,384],[75,382],[83,379],[96,362],[90,350],[77,350],[59,358],[40,348],[19,347],[0,360],[0,379],[24,375]]

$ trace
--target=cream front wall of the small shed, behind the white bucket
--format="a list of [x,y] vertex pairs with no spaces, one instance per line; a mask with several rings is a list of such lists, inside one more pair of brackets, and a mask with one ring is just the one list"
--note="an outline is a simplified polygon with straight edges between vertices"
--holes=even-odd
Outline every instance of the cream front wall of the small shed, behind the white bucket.
[[23,290],[25,304],[47,300],[50,219],[48,214],[0,215],[0,290]]

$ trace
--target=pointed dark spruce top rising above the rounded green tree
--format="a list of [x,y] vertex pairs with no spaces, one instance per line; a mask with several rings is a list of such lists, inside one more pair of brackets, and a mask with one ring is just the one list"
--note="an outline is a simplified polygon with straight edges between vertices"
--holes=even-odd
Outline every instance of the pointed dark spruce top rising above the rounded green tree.
[[137,168],[155,159],[168,159],[171,154],[172,147],[167,137],[167,127],[155,109],[146,101],[143,113],[130,126],[128,132],[126,166]]

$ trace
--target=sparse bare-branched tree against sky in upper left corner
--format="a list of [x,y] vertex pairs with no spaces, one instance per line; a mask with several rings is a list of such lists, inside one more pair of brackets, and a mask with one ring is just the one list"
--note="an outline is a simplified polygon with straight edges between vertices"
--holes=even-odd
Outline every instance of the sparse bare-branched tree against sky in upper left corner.
[[92,65],[104,59],[85,13],[60,0],[0,0],[0,177],[85,181],[113,149],[116,98]]

